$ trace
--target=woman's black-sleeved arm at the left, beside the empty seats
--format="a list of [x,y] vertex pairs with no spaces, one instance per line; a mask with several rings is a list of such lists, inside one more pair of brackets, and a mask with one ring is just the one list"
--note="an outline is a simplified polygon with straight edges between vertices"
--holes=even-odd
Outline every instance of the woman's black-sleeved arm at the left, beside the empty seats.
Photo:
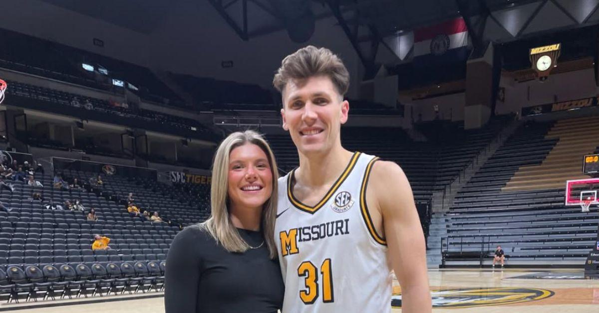
[[196,313],[201,260],[198,244],[202,231],[186,228],[175,236],[168,250],[165,270],[165,313]]

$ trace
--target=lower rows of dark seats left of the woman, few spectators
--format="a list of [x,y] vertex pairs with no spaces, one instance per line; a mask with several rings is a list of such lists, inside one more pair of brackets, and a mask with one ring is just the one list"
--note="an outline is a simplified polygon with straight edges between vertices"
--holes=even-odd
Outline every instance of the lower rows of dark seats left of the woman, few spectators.
[[[86,181],[83,178],[93,173],[80,174],[81,181]],[[122,205],[84,189],[54,189],[50,174],[38,174],[36,179],[44,187],[17,181],[13,182],[14,192],[3,189],[0,195],[2,203],[11,209],[0,211],[3,299],[8,294],[8,300],[23,300],[43,295],[70,298],[162,288],[164,260],[178,226],[132,218]],[[32,199],[34,192],[41,193],[44,201]],[[80,211],[46,207],[75,199],[88,210],[95,208],[99,220],[86,221],[86,213]],[[177,208],[156,207],[161,212],[171,209],[174,216]],[[95,233],[111,238],[112,249],[92,251]]]

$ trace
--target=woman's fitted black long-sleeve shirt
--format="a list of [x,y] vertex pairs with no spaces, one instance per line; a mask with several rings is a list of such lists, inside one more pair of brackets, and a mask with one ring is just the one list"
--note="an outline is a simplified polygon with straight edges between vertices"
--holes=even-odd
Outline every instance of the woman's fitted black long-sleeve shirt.
[[[264,241],[261,232],[238,231],[251,247]],[[279,261],[268,258],[266,243],[229,253],[198,227],[173,240],[165,284],[166,313],[276,313],[285,293]]]

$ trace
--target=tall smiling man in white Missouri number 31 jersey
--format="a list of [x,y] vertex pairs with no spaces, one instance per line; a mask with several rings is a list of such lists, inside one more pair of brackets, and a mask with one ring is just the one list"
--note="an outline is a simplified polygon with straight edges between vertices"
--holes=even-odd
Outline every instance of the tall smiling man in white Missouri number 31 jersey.
[[345,150],[349,72],[330,50],[286,57],[273,80],[299,167],[279,179],[275,236],[283,313],[431,312],[425,242],[412,189],[393,162]]

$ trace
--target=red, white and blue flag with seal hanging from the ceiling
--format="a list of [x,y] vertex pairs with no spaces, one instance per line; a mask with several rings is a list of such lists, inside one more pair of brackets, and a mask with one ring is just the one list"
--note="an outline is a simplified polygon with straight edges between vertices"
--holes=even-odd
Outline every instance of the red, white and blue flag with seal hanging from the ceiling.
[[458,62],[467,59],[469,50],[468,28],[461,17],[414,31],[415,62]]

